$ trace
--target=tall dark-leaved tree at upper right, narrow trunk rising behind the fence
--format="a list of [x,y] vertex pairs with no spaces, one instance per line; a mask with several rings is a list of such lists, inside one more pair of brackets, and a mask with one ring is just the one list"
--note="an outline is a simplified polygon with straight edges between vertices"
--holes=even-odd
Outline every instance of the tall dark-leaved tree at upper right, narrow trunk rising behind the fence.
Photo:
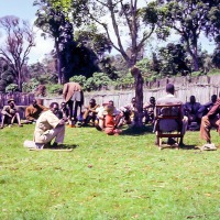
[[213,23],[210,22],[209,15],[216,6],[219,6],[219,0],[211,2],[207,0],[158,0],[160,25],[166,31],[175,30],[180,35],[182,42],[186,44],[187,52],[191,56],[194,70],[199,69],[199,36],[207,30],[213,33]]

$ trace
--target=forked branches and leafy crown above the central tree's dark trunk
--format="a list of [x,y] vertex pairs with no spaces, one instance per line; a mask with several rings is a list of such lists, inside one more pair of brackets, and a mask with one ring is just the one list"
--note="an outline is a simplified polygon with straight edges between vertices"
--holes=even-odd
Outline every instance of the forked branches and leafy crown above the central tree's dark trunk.
[[[154,14],[154,9],[144,8],[141,0],[59,0],[57,3],[72,9],[77,24],[89,21],[96,23],[129,67],[136,63],[146,40],[156,28],[156,16],[144,18],[145,10]],[[127,47],[130,47],[130,53]]]

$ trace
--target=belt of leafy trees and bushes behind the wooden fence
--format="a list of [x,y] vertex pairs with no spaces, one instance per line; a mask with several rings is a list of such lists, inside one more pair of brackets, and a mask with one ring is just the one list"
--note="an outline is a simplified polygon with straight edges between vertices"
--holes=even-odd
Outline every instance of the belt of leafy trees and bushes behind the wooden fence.
[[[52,91],[58,91],[61,86],[53,85],[69,79],[81,80],[88,90],[106,85],[130,87],[134,82],[130,67],[134,64],[145,81],[220,68],[219,0],[36,0],[34,6],[35,24],[45,38],[54,38],[54,50],[44,61],[28,66],[34,44],[30,42],[26,52],[24,46],[9,50],[15,42],[28,44],[23,44],[24,38],[16,38],[15,32],[9,32],[8,26],[13,30],[18,22],[2,18],[4,32],[11,35],[1,46],[0,90],[10,84],[20,85],[21,90],[24,82],[25,91],[38,84],[48,84]],[[204,35],[216,42],[213,54],[198,43]],[[30,29],[28,38],[33,41],[31,36]],[[175,40],[168,42],[173,36]],[[25,54],[20,72],[15,67],[21,67],[22,61],[13,62],[13,66],[9,56],[2,55],[7,50],[13,55],[12,61],[20,52]]]

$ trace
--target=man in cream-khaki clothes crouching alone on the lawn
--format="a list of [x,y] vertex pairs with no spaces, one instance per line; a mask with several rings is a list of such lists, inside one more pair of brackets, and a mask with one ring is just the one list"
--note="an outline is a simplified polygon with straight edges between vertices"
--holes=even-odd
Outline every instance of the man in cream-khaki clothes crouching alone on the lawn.
[[[67,119],[58,119],[56,113],[58,111],[58,103],[52,102],[50,110],[43,112],[36,120],[34,131],[34,142],[37,148],[57,147],[63,144],[65,135],[65,122]],[[55,139],[51,146],[51,141]],[[61,146],[61,145],[59,145]]]

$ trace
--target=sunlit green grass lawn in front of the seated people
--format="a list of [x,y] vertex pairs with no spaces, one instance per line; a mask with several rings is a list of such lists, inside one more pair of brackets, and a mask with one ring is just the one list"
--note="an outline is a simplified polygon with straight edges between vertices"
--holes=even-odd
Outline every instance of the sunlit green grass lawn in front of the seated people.
[[[29,151],[34,125],[0,131],[0,219],[220,219],[220,148],[158,151],[155,135],[67,128],[72,152]],[[211,131],[219,146],[218,133]]]

